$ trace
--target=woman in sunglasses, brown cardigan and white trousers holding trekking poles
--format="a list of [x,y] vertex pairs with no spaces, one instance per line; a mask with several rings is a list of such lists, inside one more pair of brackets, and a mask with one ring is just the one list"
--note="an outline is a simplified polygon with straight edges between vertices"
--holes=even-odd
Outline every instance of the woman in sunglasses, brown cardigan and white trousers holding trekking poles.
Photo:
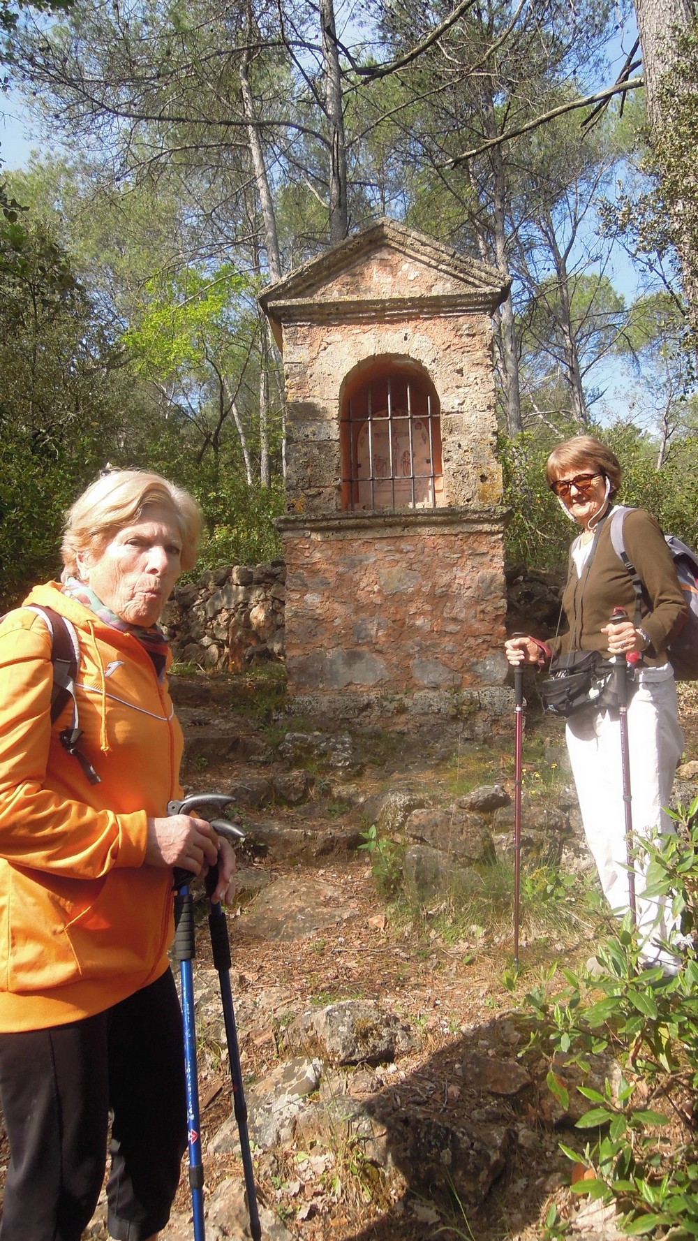
[[[632,828],[635,843],[657,830],[672,831],[663,809],[683,750],[673,670],[667,645],[686,619],[686,603],[662,531],[642,509],[626,514],[624,541],[642,581],[640,624],[630,575],[611,545],[610,514],[620,485],[616,457],[591,436],[578,436],[550,453],[547,478],[569,517],[581,527],[569,555],[563,594],[568,632],[550,645],[536,638],[506,644],[511,664],[544,665],[552,654],[599,650],[604,655],[637,653],[636,685],[629,704],[627,727]],[[629,619],[609,624],[616,608]],[[617,712],[590,705],[567,722],[567,745],[586,841],[594,855],[604,895],[614,913],[629,908],[629,872],[622,798],[622,763]],[[637,926],[641,956],[647,964],[674,970],[677,957],[662,948],[676,931],[669,911],[643,897],[643,866],[635,864]]]

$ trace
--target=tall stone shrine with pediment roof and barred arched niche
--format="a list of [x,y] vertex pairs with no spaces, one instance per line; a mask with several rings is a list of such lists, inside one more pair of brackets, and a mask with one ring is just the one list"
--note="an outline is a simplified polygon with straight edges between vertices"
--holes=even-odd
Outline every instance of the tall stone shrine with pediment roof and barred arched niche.
[[495,269],[382,220],[259,299],[284,359],[278,527],[301,709],[508,707],[491,323],[506,293]]

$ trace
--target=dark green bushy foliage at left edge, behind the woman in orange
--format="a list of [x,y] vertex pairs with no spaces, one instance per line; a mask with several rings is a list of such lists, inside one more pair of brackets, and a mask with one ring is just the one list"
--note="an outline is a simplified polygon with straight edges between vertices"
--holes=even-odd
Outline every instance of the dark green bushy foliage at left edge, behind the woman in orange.
[[64,509],[123,427],[118,351],[55,237],[0,225],[0,596],[56,576]]

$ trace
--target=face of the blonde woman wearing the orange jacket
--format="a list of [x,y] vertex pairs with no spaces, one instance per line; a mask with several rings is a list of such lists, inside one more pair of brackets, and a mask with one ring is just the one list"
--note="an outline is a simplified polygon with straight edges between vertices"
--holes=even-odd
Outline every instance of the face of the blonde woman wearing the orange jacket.
[[83,582],[129,624],[154,624],[181,571],[182,537],[166,505],[149,504],[103,550],[78,555]]

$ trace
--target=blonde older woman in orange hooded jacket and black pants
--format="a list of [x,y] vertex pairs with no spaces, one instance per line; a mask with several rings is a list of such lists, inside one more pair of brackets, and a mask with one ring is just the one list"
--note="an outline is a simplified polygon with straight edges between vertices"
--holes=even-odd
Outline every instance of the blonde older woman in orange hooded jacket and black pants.
[[[200,529],[196,503],[166,479],[104,475],[68,514],[62,582],[0,624],[2,1241],[79,1241],[109,1112],[112,1236],[154,1239],[170,1215],[186,1148],[172,867],[219,862],[213,900],[234,870],[208,823],[166,814],[182,737],[157,619]],[[51,721],[42,607],[78,639],[81,761],[60,741],[73,704]]]

